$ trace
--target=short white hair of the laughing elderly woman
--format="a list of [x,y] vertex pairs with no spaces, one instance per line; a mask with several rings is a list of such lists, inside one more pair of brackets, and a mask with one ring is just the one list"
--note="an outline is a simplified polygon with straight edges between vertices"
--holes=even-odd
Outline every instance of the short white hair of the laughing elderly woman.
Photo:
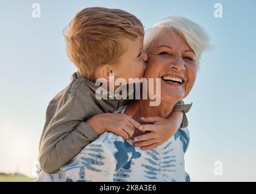
[[184,38],[190,48],[195,52],[195,64],[197,65],[197,69],[200,69],[201,54],[211,47],[209,45],[210,36],[203,27],[190,19],[180,16],[170,16],[157,22],[157,24],[145,32],[144,49],[149,49],[155,36],[166,30],[166,28],[175,30]]

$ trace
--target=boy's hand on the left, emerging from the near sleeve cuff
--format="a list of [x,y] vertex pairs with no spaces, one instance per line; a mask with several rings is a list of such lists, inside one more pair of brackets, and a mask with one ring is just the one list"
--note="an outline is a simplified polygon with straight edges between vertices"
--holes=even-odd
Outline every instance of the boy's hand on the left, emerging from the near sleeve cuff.
[[98,135],[112,132],[125,140],[132,138],[135,129],[141,130],[140,123],[132,117],[119,113],[102,113],[93,116],[87,122]]

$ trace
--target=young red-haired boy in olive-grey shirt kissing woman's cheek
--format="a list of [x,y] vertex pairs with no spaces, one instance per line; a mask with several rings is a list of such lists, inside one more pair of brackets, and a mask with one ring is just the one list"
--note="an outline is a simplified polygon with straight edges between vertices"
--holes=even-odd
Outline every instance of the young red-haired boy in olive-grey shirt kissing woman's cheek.
[[[140,20],[123,10],[85,8],[72,19],[65,38],[67,55],[78,72],[72,75],[70,84],[47,107],[39,144],[39,164],[44,172],[53,173],[67,164],[105,131],[129,139],[135,129],[141,129],[141,125],[129,116],[113,113],[126,104],[126,100],[96,99],[95,92],[99,86],[95,85],[95,81],[98,78],[109,81],[111,73],[114,73],[115,79],[124,78],[127,82],[129,78],[143,78],[147,61],[143,37]],[[182,127],[186,127],[187,120],[183,114],[189,108],[190,105],[180,102],[173,109],[177,112],[169,116],[169,122],[158,124],[166,130],[165,136],[161,137],[162,142],[166,136],[177,132],[182,119]],[[90,118],[102,113],[107,113],[108,122],[104,123],[104,127],[92,128]],[[109,116],[109,113],[112,115]],[[118,130],[117,126],[124,123],[127,127]],[[152,147],[148,145],[145,148]]]

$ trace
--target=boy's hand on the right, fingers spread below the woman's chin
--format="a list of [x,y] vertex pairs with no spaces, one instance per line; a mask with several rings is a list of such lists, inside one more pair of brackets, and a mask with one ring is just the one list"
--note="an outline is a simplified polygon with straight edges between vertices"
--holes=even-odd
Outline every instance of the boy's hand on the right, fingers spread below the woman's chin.
[[145,135],[136,136],[133,139],[133,145],[140,146],[142,150],[150,150],[157,146],[160,146],[178,131],[182,118],[183,117],[181,117],[181,115],[173,115],[173,118],[169,118],[170,120],[160,117],[142,117],[142,121],[153,124],[143,125],[142,130],[144,132],[149,131],[149,133],[146,133]]

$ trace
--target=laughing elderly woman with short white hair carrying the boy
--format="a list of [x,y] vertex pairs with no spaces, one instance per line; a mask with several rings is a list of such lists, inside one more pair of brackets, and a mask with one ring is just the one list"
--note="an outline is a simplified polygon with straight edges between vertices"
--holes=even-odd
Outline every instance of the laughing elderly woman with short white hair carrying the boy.
[[[169,17],[147,30],[144,49],[149,59],[144,77],[153,78],[155,85],[156,79],[161,79],[161,103],[150,106],[149,98],[140,99],[124,107],[121,113],[141,124],[141,118],[146,116],[155,117],[155,121],[169,116],[175,103],[192,89],[201,54],[208,45],[209,36],[204,29],[186,18]],[[148,95],[150,92],[154,91]],[[133,140],[124,141],[121,136],[103,133],[58,172],[51,175],[41,172],[39,181],[190,180],[184,170],[184,152],[189,144],[186,128],[151,150],[133,146]]]

